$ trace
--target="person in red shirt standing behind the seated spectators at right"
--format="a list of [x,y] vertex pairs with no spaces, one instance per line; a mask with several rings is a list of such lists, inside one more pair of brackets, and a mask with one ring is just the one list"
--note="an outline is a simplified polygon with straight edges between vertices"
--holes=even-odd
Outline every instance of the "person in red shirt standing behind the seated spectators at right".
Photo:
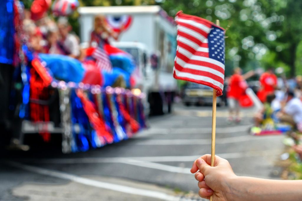
[[259,81],[261,89],[258,91],[257,96],[261,102],[265,102],[266,96],[274,93],[277,88],[277,76],[274,74],[274,69],[269,68],[268,71],[260,76]]

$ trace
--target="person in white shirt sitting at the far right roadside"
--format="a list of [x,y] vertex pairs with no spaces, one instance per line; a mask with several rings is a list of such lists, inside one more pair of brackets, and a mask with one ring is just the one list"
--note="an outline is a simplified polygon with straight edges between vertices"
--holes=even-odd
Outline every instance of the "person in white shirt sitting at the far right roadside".
[[281,121],[288,122],[297,127],[302,132],[302,101],[295,98],[294,93],[289,91],[287,94],[286,105],[278,117]]

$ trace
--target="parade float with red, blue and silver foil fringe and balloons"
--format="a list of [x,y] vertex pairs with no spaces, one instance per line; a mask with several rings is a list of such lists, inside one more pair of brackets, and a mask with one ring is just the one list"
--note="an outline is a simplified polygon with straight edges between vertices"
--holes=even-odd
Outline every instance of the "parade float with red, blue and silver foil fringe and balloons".
[[[31,12],[39,19],[51,2],[37,2]],[[69,14],[78,6],[77,1],[65,1],[62,10],[62,2],[53,3],[55,15]],[[27,134],[39,134],[46,143],[62,135],[63,153],[80,152],[128,139],[146,127],[145,94],[131,90],[136,68],[131,55],[104,44],[112,65],[105,71],[96,68],[93,54],[98,48],[85,49],[81,61],[37,53],[24,34],[22,3],[2,1],[0,10],[2,144],[26,150]]]

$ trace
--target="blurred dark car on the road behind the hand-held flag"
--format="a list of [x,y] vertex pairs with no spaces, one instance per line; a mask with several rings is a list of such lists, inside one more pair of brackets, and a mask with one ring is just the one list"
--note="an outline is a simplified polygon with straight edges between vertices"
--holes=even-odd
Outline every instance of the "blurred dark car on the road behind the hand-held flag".
[[[190,105],[212,105],[213,89],[209,86],[189,82],[184,89],[182,102],[186,106]],[[217,105],[224,106],[225,102],[221,97],[217,97]]]

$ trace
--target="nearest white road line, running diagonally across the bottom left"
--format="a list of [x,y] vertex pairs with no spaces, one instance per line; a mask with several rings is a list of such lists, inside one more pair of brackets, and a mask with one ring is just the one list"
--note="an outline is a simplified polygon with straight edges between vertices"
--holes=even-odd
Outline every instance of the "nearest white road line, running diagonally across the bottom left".
[[111,184],[111,183],[102,182],[102,181],[96,181],[96,180],[88,179],[85,177],[79,177],[74,174],[53,171],[53,170],[39,168],[39,167],[31,166],[31,165],[24,165],[24,164],[17,163],[17,162],[9,161],[9,162],[7,162],[7,164],[11,165],[13,167],[31,171],[31,172],[34,172],[37,174],[52,176],[52,177],[56,177],[56,178],[60,178],[60,179],[66,179],[66,180],[70,180],[70,181],[73,181],[73,182],[76,182],[79,184],[84,184],[87,186],[93,186],[93,187],[98,187],[98,188],[103,188],[103,189],[108,189],[108,190],[114,190],[114,191],[118,191],[118,192],[122,192],[122,193],[152,197],[152,198],[169,200],[169,201],[180,200],[179,197],[171,196],[166,193],[159,192],[159,191],[145,190],[145,189],[140,189],[140,188],[122,186],[122,185],[118,185],[118,184]]

